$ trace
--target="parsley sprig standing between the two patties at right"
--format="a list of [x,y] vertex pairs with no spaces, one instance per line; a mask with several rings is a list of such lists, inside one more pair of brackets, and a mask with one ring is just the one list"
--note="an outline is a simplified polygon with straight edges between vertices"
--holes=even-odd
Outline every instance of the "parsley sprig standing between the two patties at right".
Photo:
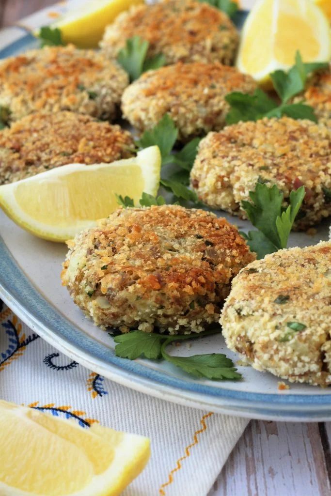
[[241,234],[260,259],[287,247],[289,234],[305,196],[305,188],[301,186],[291,191],[290,204],[285,210],[282,208],[283,192],[276,185],[268,187],[257,183],[255,191],[249,194],[252,202],[242,201],[242,208],[259,231]]

